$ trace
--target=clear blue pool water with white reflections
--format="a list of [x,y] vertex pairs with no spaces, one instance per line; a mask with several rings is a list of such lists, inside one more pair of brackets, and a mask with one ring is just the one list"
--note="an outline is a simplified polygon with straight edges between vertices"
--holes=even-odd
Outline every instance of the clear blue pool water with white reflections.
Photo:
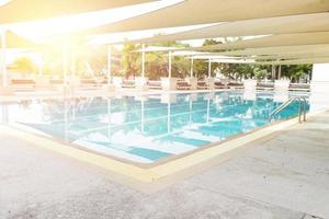
[[[230,91],[34,100],[2,104],[1,119],[72,146],[152,163],[264,126],[285,99]],[[294,103],[275,119],[297,112]]]

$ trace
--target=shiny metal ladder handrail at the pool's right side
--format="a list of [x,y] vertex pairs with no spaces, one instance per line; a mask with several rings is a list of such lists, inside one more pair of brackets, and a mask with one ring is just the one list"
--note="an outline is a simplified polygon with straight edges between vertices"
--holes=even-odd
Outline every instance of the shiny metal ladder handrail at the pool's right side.
[[303,114],[303,122],[306,122],[306,104],[307,104],[307,101],[304,96],[292,96],[286,102],[282,103],[277,108],[275,108],[270,114],[270,117],[269,117],[270,122],[273,120],[273,118],[276,114],[282,112],[284,108],[290,106],[295,101],[298,101],[298,122],[299,122],[299,124],[302,123],[302,114]]

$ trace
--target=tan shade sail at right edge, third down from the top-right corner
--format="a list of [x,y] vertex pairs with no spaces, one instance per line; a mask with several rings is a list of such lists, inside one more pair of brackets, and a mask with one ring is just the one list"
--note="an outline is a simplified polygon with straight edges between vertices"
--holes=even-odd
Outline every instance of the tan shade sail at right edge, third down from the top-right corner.
[[271,46],[316,45],[316,44],[329,44],[329,32],[271,35],[271,36],[264,36],[254,39],[246,39],[246,41],[238,41],[238,42],[225,43],[218,45],[202,46],[193,49],[209,51],[209,50],[260,48],[260,47],[271,47]]

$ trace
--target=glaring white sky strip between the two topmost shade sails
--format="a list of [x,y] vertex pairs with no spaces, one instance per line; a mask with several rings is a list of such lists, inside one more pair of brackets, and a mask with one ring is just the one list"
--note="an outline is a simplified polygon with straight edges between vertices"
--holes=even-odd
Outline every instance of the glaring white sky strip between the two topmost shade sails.
[[76,31],[115,23],[144,13],[159,10],[183,0],[166,0],[131,7],[90,12],[78,15],[25,22],[11,26],[15,33],[34,41],[47,41],[49,36],[68,34]]

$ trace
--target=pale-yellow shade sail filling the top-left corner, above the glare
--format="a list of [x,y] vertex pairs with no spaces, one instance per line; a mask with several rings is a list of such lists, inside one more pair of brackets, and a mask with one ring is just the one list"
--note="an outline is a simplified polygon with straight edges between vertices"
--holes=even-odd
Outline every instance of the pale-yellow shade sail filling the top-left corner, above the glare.
[[151,0],[12,0],[0,7],[0,24],[92,12],[149,1]]

